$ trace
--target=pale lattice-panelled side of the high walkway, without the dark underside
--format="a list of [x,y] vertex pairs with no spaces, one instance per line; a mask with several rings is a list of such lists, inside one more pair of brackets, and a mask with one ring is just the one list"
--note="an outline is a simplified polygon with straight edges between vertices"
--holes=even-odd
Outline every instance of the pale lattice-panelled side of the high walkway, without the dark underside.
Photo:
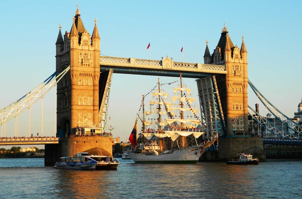
[[159,71],[180,71],[180,72],[200,72],[200,73],[220,73],[226,74],[224,65],[210,65],[201,63],[174,62],[173,58],[163,58],[162,60],[136,59],[123,57],[100,56],[100,67],[114,66],[111,68],[129,68],[140,70]]

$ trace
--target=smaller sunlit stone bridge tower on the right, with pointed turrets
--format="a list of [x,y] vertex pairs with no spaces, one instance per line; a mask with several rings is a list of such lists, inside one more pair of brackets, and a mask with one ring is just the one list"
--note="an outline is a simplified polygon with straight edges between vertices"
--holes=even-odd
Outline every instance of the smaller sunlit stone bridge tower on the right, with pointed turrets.
[[212,55],[207,43],[204,63],[225,64],[228,72],[226,75],[216,75],[223,113],[226,116],[227,135],[248,135],[248,63],[244,37],[242,36],[242,44],[239,49],[237,45],[233,45],[224,25],[219,42]]

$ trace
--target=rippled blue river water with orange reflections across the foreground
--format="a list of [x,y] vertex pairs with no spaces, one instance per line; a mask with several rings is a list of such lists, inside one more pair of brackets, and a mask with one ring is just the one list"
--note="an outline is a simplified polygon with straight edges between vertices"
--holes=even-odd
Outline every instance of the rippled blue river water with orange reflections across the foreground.
[[260,165],[135,164],[59,170],[44,159],[0,159],[0,198],[302,198],[302,161]]

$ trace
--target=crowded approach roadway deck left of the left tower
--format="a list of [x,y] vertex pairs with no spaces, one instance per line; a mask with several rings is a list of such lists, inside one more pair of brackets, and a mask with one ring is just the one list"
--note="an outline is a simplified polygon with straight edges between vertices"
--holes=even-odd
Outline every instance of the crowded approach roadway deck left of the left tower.
[[58,144],[59,137],[0,138],[1,145]]

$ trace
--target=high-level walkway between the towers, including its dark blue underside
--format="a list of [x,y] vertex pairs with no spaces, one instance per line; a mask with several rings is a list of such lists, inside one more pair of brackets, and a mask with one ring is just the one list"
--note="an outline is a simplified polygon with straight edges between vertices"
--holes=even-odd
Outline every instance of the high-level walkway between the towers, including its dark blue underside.
[[227,73],[224,65],[174,62],[173,58],[169,59],[168,56],[162,57],[162,60],[100,56],[101,72],[109,69],[113,69],[114,73],[173,77],[179,76],[179,72],[182,72],[182,77],[189,78]]

